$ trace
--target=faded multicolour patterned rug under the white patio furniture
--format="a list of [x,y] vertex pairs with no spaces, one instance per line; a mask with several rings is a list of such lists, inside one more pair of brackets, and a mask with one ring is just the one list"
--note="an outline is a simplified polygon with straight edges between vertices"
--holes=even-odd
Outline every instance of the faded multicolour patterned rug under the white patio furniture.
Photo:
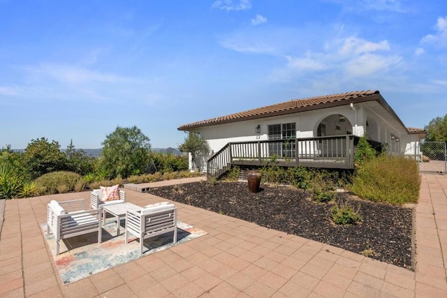
[[[47,224],[42,224],[41,228],[65,285],[140,258],[140,241],[129,237],[129,244],[124,244],[124,228],[116,236],[117,223],[114,218],[105,221],[101,244],[98,244],[97,232],[64,239],[59,255],[55,255],[53,234],[47,236]],[[177,244],[173,243],[173,232],[145,239],[141,258],[207,234],[181,221],[177,222],[177,228]]]

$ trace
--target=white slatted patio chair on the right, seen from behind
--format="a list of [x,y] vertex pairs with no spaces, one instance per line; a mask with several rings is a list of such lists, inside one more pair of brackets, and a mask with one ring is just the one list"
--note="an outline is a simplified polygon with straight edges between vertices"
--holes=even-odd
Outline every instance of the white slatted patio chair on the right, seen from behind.
[[177,207],[169,202],[145,206],[141,211],[126,212],[126,244],[129,233],[140,239],[140,255],[143,240],[167,232],[174,232],[173,242],[177,243]]

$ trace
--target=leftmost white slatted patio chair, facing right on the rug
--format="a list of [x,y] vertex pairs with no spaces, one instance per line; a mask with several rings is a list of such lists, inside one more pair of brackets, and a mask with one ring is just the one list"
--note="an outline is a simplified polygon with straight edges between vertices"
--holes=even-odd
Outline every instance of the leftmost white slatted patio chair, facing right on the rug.
[[47,204],[47,235],[52,232],[56,239],[56,255],[62,239],[75,237],[90,232],[98,232],[101,243],[101,209],[85,210],[85,200],[70,200]]

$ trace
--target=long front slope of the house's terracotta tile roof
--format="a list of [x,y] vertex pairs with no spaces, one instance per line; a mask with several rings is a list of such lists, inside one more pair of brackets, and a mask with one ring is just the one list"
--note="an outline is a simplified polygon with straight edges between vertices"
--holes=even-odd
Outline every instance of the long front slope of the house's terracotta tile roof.
[[295,112],[302,112],[304,110],[318,110],[327,107],[331,103],[337,105],[337,102],[343,100],[352,100],[355,98],[366,98],[380,94],[379,91],[352,91],[343,94],[331,94],[325,96],[316,96],[310,98],[288,100],[285,103],[277,103],[275,105],[268,105],[266,107],[258,107],[253,110],[245,112],[238,112],[222,117],[206,119],[202,121],[193,122],[191,124],[184,124],[178,128],[179,131],[189,131],[191,128],[199,128],[203,126],[212,126],[216,124],[223,124],[236,121],[244,121],[248,119],[259,119],[265,117],[272,117],[278,114],[293,114]]

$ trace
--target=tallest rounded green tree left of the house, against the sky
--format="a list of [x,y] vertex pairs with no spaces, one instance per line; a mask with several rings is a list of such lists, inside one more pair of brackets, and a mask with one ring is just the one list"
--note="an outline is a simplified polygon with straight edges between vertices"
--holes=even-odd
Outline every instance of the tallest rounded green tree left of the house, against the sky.
[[144,172],[149,163],[151,144],[139,128],[117,126],[103,141],[100,166],[112,177],[129,177]]

